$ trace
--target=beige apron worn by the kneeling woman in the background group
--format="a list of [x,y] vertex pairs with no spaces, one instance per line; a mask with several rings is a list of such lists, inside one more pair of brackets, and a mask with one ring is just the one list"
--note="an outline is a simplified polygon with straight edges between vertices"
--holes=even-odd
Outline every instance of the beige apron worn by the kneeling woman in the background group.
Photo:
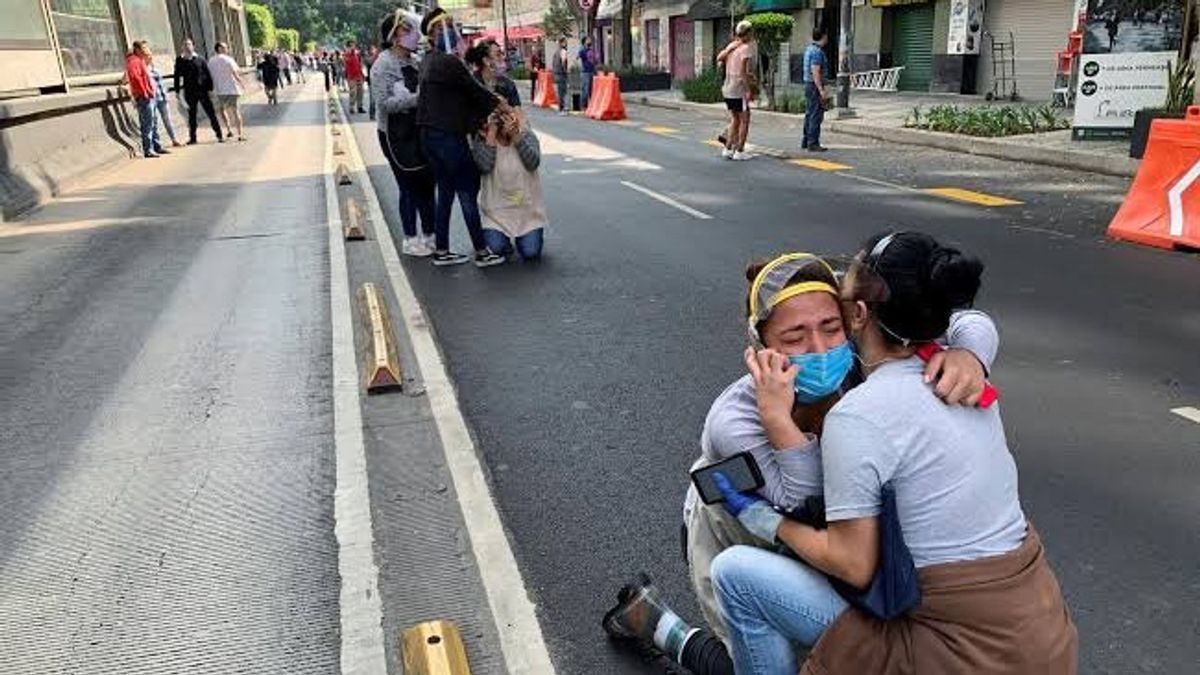
[[479,190],[484,226],[516,238],[548,225],[538,172],[527,171],[514,145],[496,147],[496,167]]

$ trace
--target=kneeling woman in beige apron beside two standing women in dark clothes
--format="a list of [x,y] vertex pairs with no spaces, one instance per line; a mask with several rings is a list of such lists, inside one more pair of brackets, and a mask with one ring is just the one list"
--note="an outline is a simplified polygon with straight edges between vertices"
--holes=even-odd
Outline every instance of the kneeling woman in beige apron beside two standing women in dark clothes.
[[500,256],[516,252],[526,261],[541,258],[542,231],[548,225],[541,195],[541,145],[520,108],[493,113],[470,151],[482,177],[479,209],[484,241]]

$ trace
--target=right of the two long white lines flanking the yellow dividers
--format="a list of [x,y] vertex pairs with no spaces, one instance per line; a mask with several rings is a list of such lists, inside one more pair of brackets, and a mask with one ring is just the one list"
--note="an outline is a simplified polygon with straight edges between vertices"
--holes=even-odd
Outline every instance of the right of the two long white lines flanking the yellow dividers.
[[487,591],[487,603],[492,608],[496,631],[500,637],[500,649],[510,675],[553,675],[554,667],[546,650],[546,641],[538,623],[534,604],[529,601],[516,557],[509,545],[500,514],[496,508],[491,485],[484,478],[479,464],[479,450],[467,430],[467,420],[458,407],[454,383],[446,372],[442,352],[438,350],[430,321],[421,309],[416,294],[408,281],[408,274],[400,264],[396,244],[388,233],[386,220],[379,207],[379,196],[366,172],[366,162],[359,151],[358,138],[348,135],[350,156],[354,160],[355,180],[362,186],[367,213],[379,244],[384,267],[391,281],[400,316],[413,341],[416,364],[425,381],[433,419],[442,440],[446,466],[458,494],[458,506],[467,524],[470,548],[475,554],[479,574]]

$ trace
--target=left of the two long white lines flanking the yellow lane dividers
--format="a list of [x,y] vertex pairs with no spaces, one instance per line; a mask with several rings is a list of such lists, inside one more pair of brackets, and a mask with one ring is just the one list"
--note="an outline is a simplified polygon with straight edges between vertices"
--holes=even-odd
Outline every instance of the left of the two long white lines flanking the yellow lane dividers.
[[334,184],[334,137],[324,127],[322,133],[325,136],[325,209],[329,216],[329,307],[334,328],[334,448],[337,456],[334,533],[337,537],[337,573],[342,578],[341,671],[343,675],[386,675],[379,569],[374,562],[371,494],[362,443],[359,366],[350,318],[350,281],[342,211]]

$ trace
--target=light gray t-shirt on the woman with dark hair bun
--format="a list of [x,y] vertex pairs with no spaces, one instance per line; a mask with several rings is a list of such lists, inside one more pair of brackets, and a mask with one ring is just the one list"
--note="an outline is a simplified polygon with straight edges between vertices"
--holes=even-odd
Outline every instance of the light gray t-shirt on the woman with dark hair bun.
[[826,417],[826,518],[878,515],[890,482],[918,568],[1012,551],[1025,514],[1000,406],[947,406],[924,368],[916,357],[886,363]]

